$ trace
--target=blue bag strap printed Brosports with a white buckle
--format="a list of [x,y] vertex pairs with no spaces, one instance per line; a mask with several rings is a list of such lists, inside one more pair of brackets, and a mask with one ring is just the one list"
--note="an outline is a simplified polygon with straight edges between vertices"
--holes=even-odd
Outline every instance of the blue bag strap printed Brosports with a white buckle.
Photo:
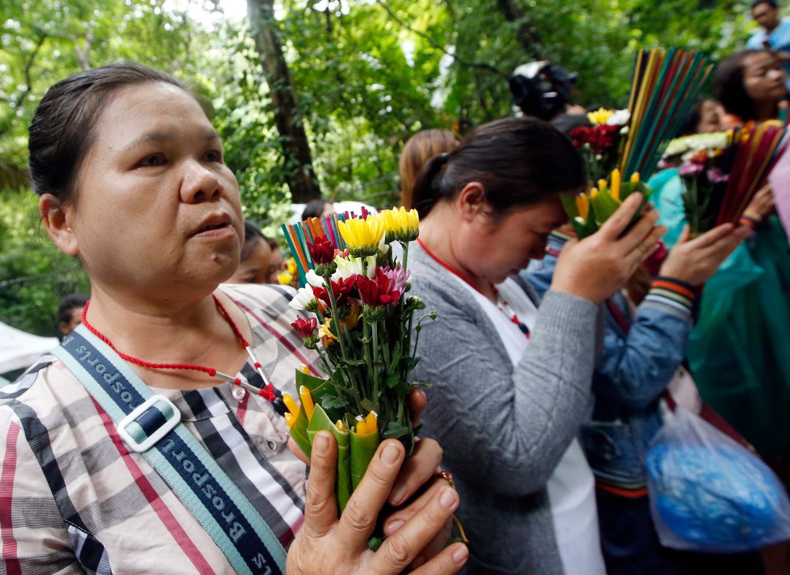
[[80,325],[52,352],[110,415],[220,547],[236,573],[283,575],[286,552],[249,499],[115,351]]

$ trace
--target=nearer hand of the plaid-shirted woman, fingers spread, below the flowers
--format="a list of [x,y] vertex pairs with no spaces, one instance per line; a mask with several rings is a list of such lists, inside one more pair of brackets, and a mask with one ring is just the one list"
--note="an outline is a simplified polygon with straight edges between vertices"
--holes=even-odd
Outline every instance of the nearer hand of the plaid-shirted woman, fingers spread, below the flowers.
[[[446,528],[457,509],[458,495],[452,487],[434,490],[428,501],[387,537],[378,551],[370,551],[368,539],[374,532],[379,511],[393,493],[393,484],[404,462],[403,445],[386,440],[378,446],[340,519],[334,495],[337,444],[332,434],[322,431],[316,436],[312,455],[304,524],[288,553],[288,575],[401,573],[410,564],[416,565],[416,558]],[[412,573],[450,575],[457,573],[467,558],[465,545],[455,543]]]

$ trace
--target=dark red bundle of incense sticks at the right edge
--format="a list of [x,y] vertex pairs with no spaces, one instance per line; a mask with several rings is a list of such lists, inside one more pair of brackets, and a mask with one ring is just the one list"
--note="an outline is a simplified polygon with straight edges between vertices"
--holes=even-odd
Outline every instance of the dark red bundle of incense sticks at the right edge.
[[781,122],[749,124],[735,133],[728,160],[732,167],[721,199],[717,224],[735,224],[788,148],[788,133]]

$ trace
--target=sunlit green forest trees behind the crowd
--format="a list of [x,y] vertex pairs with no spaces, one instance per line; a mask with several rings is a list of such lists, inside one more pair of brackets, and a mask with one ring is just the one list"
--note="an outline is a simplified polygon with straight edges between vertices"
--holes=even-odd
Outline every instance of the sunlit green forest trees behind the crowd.
[[122,58],[189,81],[213,109],[245,215],[269,234],[292,201],[397,201],[418,130],[513,115],[508,77],[551,59],[577,103],[623,107],[639,48],[743,47],[750,2],[716,0],[0,0],[0,321],[55,335],[88,291],[28,186],[27,126],[47,88]]

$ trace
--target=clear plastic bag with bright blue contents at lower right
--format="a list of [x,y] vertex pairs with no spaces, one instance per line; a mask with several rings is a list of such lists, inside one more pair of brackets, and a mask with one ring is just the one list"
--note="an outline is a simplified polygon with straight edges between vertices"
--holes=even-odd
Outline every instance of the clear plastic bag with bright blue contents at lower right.
[[650,442],[650,511],[664,547],[740,553],[790,539],[781,481],[748,449],[678,407]]

